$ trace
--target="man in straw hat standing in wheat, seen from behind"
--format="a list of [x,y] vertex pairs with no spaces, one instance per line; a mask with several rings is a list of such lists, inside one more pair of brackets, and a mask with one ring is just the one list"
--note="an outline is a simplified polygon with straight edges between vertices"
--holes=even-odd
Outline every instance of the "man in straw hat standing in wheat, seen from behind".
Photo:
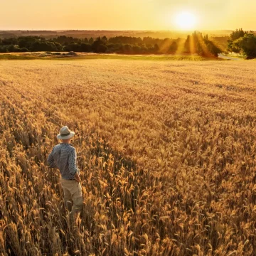
[[57,139],[62,143],[53,147],[48,156],[50,168],[58,168],[61,175],[61,186],[64,192],[65,206],[70,215],[82,211],[82,187],[80,184],[79,169],[77,166],[77,155],[75,148],[70,145],[71,138],[75,132],[71,132],[67,126],[60,129]]

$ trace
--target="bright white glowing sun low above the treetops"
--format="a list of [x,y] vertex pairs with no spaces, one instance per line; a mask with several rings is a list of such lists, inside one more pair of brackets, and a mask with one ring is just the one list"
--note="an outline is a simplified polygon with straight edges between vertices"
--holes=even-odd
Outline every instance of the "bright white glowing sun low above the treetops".
[[194,29],[197,23],[197,18],[189,11],[181,11],[175,16],[175,24],[179,29],[188,30]]

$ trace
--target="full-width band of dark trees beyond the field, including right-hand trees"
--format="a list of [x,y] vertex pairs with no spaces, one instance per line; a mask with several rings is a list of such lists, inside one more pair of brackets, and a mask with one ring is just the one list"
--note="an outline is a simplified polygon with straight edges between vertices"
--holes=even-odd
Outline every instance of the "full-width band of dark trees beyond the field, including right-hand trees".
[[[242,29],[233,31],[227,38],[209,38],[195,31],[182,38],[159,39],[151,37],[106,36],[97,38],[73,38],[58,36],[46,39],[41,36],[19,36],[0,39],[0,52],[26,51],[74,51],[84,53],[121,53],[121,54],[175,54],[188,53],[211,57],[223,52],[225,42],[228,50],[244,53],[248,58],[255,58],[255,34]],[[221,47],[220,47],[221,44]],[[224,49],[225,50],[225,49]]]

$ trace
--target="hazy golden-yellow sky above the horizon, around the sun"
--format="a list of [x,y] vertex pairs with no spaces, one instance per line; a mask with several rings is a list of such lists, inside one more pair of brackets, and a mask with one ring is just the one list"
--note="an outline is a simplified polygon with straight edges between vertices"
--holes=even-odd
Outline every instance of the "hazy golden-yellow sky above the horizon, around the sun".
[[184,11],[193,30],[256,30],[256,0],[0,0],[0,30],[179,30]]

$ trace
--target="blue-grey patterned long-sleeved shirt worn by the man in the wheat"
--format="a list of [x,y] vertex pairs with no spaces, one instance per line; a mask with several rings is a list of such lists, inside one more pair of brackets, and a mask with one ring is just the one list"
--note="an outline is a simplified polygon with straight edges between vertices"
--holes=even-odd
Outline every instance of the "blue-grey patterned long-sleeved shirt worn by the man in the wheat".
[[75,179],[75,173],[79,172],[77,166],[77,155],[75,148],[70,144],[60,143],[53,146],[53,150],[48,156],[48,165],[50,168],[58,168],[62,178]]

